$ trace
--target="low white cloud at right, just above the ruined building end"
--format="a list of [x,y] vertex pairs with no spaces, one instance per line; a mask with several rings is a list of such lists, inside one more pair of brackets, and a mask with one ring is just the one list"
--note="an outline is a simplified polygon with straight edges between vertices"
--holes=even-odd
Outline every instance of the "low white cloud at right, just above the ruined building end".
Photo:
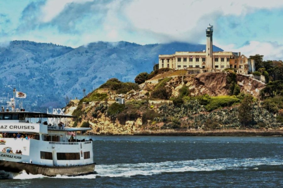
[[241,52],[241,54],[249,57],[250,55],[264,55],[264,60],[283,60],[283,44],[269,41],[250,41],[240,48],[236,48],[234,44],[221,45],[214,44],[224,51]]

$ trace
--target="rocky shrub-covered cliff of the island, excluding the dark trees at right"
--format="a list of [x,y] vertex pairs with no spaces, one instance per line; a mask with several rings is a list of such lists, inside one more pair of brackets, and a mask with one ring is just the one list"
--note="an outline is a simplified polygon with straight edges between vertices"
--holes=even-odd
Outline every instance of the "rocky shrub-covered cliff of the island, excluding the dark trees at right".
[[[129,87],[117,79],[109,80],[80,101],[70,101],[66,112],[77,117],[70,121],[70,126],[90,126],[95,134],[242,129],[245,127],[237,118],[238,104],[247,94],[258,98],[264,86],[250,76],[231,72],[190,75],[185,71],[169,70],[138,87]],[[237,96],[232,96],[231,88],[236,87],[239,88]],[[126,104],[116,103],[116,97],[125,98]],[[259,104],[254,106],[253,113],[257,117],[250,128],[281,127],[275,116]]]

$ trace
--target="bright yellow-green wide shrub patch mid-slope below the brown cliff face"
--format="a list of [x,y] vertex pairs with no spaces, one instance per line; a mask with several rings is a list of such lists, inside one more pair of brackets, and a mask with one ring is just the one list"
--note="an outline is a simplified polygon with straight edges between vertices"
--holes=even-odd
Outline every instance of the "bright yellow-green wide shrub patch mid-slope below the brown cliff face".
[[208,112],[215,110],[220,107],[230,107],[233,104],[237,104],[240,102],[240,99],[231,96],[218,96],[211,97],[211,101],[209,104],[205,106]]

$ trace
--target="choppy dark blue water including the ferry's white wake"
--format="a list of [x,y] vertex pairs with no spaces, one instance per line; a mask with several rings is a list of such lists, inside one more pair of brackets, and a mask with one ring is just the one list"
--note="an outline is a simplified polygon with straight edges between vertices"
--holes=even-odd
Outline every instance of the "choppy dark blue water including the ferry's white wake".
[[5,173],[1,187],[283,187],[283,137],[93,137],[96,174]]

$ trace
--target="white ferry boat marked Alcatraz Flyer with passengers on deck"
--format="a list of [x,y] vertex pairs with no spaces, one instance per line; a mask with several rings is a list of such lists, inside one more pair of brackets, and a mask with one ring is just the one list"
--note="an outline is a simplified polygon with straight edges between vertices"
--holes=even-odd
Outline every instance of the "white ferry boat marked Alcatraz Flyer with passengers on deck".
[[94,173],[92,139],[86,135],[91,128],[67,127],[64,121],[74,116],[61,109],[15,109],[15,93],[0,112],[0,169],[46,176]]

